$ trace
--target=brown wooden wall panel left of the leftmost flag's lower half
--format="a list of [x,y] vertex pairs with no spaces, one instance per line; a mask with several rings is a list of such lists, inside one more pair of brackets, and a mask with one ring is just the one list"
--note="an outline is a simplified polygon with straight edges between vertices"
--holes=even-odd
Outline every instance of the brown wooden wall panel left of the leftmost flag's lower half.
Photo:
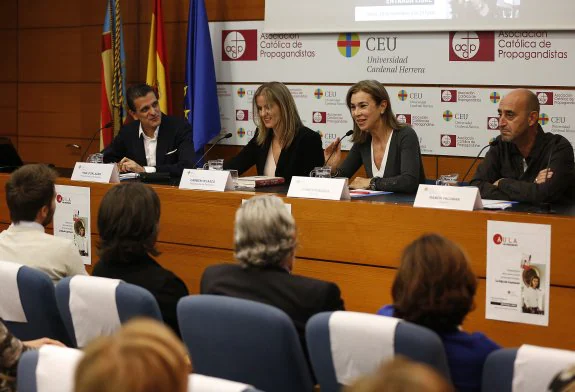
[[21,83],[19,134],[89,139],[99,127],[99,98],[95,83]]

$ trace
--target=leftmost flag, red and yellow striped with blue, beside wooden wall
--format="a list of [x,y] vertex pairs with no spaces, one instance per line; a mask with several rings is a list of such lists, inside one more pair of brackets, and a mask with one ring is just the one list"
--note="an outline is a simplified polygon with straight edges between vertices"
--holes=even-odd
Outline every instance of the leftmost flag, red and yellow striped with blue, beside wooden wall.
[[126,121],[126,55],[119,0],[108,0],[102,32],[102,91],[100,126],[113,121],[113,128],[103,129],[100,149],[108,146]]

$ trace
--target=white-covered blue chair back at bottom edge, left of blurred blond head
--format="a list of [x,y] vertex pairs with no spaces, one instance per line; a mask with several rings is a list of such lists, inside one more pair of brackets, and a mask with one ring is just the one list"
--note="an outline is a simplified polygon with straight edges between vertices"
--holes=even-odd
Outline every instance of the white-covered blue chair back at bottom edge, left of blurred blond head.
[[45,345],[26,351],[18,363],[19,392],[73,392],[76,366],[82,352]]

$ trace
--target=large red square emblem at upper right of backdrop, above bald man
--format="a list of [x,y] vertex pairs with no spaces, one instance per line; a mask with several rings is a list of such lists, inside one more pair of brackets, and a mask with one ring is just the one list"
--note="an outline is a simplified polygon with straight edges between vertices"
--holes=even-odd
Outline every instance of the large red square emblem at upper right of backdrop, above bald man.
[[495,61],[495,33],[450,32],[449,61]]

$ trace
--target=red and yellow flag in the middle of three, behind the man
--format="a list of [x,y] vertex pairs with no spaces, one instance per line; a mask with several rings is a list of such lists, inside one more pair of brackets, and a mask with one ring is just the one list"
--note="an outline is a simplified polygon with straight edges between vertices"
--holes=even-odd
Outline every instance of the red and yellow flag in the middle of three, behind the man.
[[154,0],[152,13],[152,28],[150,29],[150,48],[148,49],[148,73],[146,83],[158,91],[160,109],[163,113],[172,114],[172,91],[170,88],[170,72],[166,40],[164,39],[164,18],[162,17],[162,1]]

